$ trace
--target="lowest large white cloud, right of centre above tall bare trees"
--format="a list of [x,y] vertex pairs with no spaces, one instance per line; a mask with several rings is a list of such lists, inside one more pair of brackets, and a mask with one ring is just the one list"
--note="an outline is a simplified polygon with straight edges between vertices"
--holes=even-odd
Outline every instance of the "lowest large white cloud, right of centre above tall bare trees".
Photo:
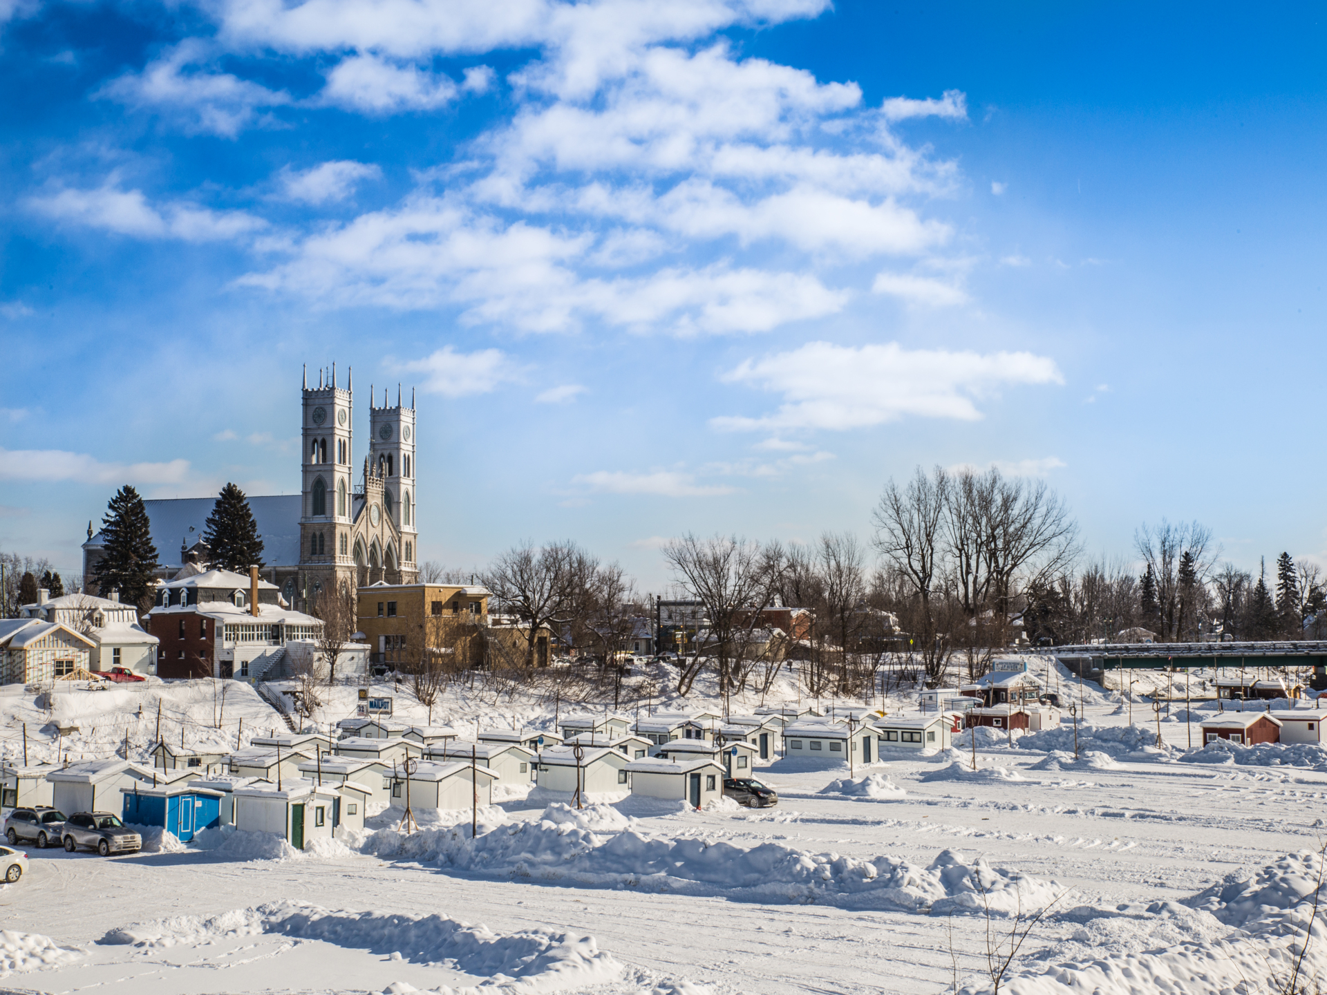
[[906,350],[897,342],[811,342],[747,360],[723,379],[783,394],[775,414],[711,419],[721,430],[859,429],[906,415],[982,418],[974,403],[1001,387],[1063,383],[1050,358],[1031,353]]

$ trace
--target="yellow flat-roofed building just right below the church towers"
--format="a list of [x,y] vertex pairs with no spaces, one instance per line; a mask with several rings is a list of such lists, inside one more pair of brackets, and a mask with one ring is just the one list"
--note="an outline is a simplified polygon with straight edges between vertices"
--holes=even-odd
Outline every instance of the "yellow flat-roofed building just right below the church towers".
[[358,628],[374,663],[406,669],[426,651],[449,669],[484,658],[488,589],[459,584],[372,584],[358,590]]

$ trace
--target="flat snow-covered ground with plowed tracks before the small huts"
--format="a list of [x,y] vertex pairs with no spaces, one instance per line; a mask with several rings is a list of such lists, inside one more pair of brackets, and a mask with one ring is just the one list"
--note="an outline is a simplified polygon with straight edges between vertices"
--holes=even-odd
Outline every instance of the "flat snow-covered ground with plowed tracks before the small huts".
[[[1076,681],[1051,674],[1078,700]],[[207,685],[154,693],[194,695],[199,727],[180,727],[207,734]],[[145,691],[88,696],[109,694]],[[353,699],[337,689],[314,718]],[[29,850],[31,873],[0,889],[0,976],[106,995],[977,992],[991,987],[987,910],[1007,943],[1015,914],[1054,901],[1002,990],[1282,988],[1327,838],[1327,751],[1189,751],[1210,700],[1162,714],[1158,746],[1149,702],[1135,700],[1131,727],[1116,691],[1087,685],[1082,700],[1078,759],[1066,723],[1013,740],[981,730],[975,751],[961,736],[851,772],[780,760],[756,772],[779,791],[770,809],[628,799],[577,812],[515,792],[480,812],[475,838],[468,812],[401,836],[389,809],[313,854],[223,838],[109,860]],[[232,707],[249,710],[245,739],[275,722],[256,696]],[[475,715],[553,723],[552,706],[478,690],[449,694],[433,722],[466,734]],[[397,718],[425,712],[398,693]],[[1327,974],[1320,929],[1311,979]]]

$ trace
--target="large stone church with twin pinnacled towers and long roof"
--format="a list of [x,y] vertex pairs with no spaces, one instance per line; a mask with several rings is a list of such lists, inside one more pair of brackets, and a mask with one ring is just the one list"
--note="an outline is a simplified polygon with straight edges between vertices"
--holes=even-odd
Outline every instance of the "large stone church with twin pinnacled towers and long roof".
[[[263,578],[275,584],[289,608],[308,610],[311,600],[333,584],[364,586],[414,584],[419,569],[415,523],[415,406],[384,390],[382,406],[369,389],[369,443],[354,482],[353,381],[337,382],[336,365],[301,390],[300,494],[249,496],[263,537]],[[161,566],[171,580],[207,563],[203,531],[216,498],[145,500]],[[88,525],[82,545],[89,593],[98,593],[93,568],[101,560],[101,532]]]

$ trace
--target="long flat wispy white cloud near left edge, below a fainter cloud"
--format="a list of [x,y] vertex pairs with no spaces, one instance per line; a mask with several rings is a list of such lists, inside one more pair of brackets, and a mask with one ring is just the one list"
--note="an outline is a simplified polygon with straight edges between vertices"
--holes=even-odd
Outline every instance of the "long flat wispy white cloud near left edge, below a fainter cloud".
[[244,211],[211,211],[180,202],[153,207],[142,191],[114,186],[61,190],[31,198],[27,206],[48,218],[139,239],[228,241],[267,227]]

